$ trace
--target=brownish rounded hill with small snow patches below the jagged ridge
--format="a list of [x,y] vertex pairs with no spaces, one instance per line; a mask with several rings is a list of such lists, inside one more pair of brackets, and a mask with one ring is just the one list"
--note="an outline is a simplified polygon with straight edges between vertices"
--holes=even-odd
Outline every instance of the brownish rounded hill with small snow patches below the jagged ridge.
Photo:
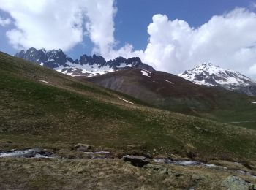
[[82,80],[129,94],[165,110],[224,122],[256,119],[256,105],[251,103],[253,97],[223,88],[199,86],[166,72],[129,69]]

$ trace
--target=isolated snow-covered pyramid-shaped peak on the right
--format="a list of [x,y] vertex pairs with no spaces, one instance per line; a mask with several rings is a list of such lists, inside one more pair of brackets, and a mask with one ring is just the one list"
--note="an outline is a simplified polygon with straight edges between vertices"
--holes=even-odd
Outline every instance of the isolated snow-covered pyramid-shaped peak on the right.
[[230,91],[238,91],[249,96],[256,95],[256,83],[249,77],[229,69],[222,69],[210,63],[196,66],[179,74],[192,83],[205,86],[221,86]]

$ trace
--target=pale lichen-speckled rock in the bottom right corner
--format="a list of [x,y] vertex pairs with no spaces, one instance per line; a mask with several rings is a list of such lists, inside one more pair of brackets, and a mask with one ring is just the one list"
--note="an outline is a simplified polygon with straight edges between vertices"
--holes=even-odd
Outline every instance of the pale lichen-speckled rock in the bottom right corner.
[[237,176],[228,176],[222,181],[222,187],[232,190],[253,190],[254,185]]

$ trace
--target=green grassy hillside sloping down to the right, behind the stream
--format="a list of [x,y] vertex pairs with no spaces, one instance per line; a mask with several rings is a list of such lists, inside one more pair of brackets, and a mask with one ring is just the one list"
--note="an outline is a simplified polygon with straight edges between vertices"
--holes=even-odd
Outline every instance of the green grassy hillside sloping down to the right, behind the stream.
[[82,142],[113,151],[143,146],[143,151],[155,148],[200,159],[256,156],[255,130],[156,110],[139,101],[127,104],[117,98],[120,94],[4,53],[0,79],[0,149],[61,149]]

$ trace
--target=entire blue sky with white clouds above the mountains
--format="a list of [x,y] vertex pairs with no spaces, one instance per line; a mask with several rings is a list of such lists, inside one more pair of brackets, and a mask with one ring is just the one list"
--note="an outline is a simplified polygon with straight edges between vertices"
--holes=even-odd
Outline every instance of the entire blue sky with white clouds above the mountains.
[[256,0],[0,0],[0,50],[29,47],[174,74],[211,62],[256,80]]

